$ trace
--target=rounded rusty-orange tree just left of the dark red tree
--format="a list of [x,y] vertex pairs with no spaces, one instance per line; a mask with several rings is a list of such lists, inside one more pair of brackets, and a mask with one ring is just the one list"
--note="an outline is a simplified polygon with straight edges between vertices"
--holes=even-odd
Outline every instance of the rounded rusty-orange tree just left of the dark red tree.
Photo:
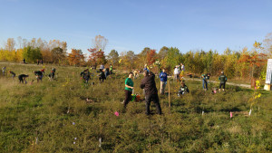
[[84,55],[82,50],[72,49],[67,58],[69,64],[73,66],[81,66],[84,62]]

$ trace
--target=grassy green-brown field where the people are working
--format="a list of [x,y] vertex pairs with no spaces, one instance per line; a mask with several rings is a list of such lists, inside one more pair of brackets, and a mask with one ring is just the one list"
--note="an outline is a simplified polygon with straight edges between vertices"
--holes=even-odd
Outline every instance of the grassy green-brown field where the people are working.
[[[201,82],[186,81],[190,93],[178,97],[179,85],[169,81],[171,110],[168,95],[163,95],[163,114],[157,115],[151,104],[152,115],[146,116],[144,101],[130,102],[121,113],[126,74],[113,74],[100,84],[94,72],[95,84],[85,86],[80,78],[84,68],[56,66],[56,81],[44,77],[42,83],[30,84],[33,71],[43,66],[0,63],[4,65],[30,77],[27,84],[19,84],[17,77],[13,81],[0,75],[1,152],[272,151],[270,91],[260,91],[248,116],[253,90],[227,86],[226,92],[212,94],[201,89]],[[45,74],[52,68],[45,65]],[[134,84],[142,97],[141,78]]]

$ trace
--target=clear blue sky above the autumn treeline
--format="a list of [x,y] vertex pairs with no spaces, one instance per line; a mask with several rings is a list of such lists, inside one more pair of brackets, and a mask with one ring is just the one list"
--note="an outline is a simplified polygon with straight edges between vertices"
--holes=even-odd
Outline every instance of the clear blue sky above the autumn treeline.
[[177,47],[180,53],[239,51],[272,32],[272,0],[0,0],[0,47],[7,38],[67,42],[88,53]]

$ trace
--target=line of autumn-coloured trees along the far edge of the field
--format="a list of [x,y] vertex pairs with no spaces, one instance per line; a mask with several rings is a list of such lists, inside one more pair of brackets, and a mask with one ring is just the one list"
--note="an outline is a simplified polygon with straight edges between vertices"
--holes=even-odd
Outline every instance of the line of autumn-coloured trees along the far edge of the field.
[[208,52],[189,51],[181,53],[176,47],[155,49],[145,47],[141,53],[133,51],[118,53],[112,50],[105,55],[104,49],[108,40],[102,35],[96,35],[92,40],[92,47],[88,49],[89,56],[83,54],[80,49],[72,49],[67,52],[67,43],[59,40],[49,41],[48,43],[41,38],[33,38],[27,41],[18,38],[18,49],[15,49],[15,39],[8,38],[5,48],[0,49],[0,60],[21,62],[36,62],[43,59],[47,63],[73,66],[97,66],[99,64],[110,64],[123,69],[142,70],[145,64],[154,72],[160,69],[166,69],[167,72],[173,72],[175,65],[183,63],[186,66],[186,72],[199,75],[203,72],[209,72],[211,75],[218,75],[223,71],[228,78],[265,78],[267,70],[267,59],[272,57],[272,33],[268,33],[263,43],[253,43],[253,49],[247,47],[241,51],[232,51],[227,48],[224,53],[209,50]]

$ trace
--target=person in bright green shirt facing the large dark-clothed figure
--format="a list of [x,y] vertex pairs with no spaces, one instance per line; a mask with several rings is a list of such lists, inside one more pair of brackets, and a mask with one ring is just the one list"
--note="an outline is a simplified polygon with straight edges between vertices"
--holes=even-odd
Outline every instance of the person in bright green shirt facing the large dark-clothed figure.
[[126,107],[131,100],[131,94],[133,90],[133,81],[131,79],[132,77],[133,73],[130,72],[129,77],[125,81],[125,100],[123,101],[123,110],[126,110]]

